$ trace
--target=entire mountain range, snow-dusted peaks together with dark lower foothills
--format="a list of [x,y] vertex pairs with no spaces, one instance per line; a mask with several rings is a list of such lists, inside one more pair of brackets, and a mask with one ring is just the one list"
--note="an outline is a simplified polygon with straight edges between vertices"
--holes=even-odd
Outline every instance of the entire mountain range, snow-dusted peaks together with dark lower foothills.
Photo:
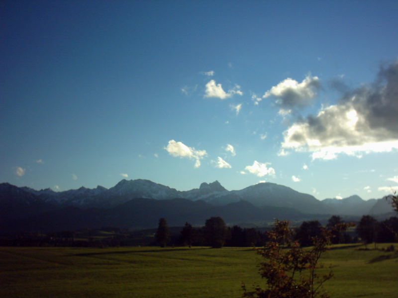
[[330,215],[393,215],[384,199],[317,200],[275,183],[259,183],[242,190],[226,190],[218,181],[178,191],[150,180],[121,180],[107,189],[81,187],[62,192],[0,184],[0,229],[59,230],[105,225],[154,227],[160,217],[170,225],[203,224],[221,216],[228,224],[266,224],[274,218],[295,221]]

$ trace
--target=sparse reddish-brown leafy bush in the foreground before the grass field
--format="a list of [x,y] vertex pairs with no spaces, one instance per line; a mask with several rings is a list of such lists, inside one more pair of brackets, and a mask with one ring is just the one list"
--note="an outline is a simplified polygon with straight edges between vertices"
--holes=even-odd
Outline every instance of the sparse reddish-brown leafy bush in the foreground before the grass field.
[[[338,224],[335,228],[346,229],[350,224]],[[332,233],[321,228],[319,236],[312,237],[313,246],[303,249],[297,241],[292,241],[292,230],[288,221],[275,221],[274,228],[268,232],[269,241],[258,248],[264,261],[260,263],[260,275],[267,279],[267,288],[255,287],[247,291],[242,284],[243,297],[246,298],[328,298],[322,291],[322,284],[332,278],[328,274],[316,273],[319,258],[327,250]]]

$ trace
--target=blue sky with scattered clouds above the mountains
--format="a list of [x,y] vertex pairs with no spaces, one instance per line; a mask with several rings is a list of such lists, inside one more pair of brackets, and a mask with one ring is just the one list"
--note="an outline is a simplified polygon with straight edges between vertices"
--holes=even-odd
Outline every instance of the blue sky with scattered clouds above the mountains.
[[0,182],[398,190],[397,1],[0,5]]

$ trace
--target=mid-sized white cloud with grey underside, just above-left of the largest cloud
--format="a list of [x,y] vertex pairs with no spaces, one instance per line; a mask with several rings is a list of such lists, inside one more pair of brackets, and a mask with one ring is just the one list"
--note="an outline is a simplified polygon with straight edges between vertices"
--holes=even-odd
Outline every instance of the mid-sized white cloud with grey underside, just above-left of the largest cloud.
[[288,77],[265,92],[263,98],[275,96],[276,104],[281,107],[280,113],[286,115],[294,107],[303,107],[311,103],[319,87],[317,76],[308,75],[301,83]]

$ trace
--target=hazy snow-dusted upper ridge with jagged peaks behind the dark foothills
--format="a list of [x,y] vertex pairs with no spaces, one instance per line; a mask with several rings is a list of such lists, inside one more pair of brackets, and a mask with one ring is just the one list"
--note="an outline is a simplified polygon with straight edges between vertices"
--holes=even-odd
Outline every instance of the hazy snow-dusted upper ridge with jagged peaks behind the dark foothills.
[[[8,183],[0,185],[6,184]],[[244,200],[257,207],[288,207],[297,209],[300,212],[316,214],[363,215],[392,211],[387,202],[380,202],[378,207],[374,208],[378,202],[376,199],[365,201],[359,196],[353,195],[341,200],[325,199],[319,201],[312,195],[300,193],[290,187],[269,182],[258,183],[241,190],[232,191],[225,189],[217,180],[211,183],[203,182],[199,188],[189,191],[178,191],[175,188],[145,179],[122,179],[109,189],[100,185],[93,189],[82,186],[79,189],[62,192],[55,192],[50,188],[34,190],[29,187],[20,187],[19,189],[37,196],[38,199],[46,203],[81,208],[109,208],[128,202],[133,198],[155,200],[182,198],[192,201],[203,200],[215,206],[223,206]]]

